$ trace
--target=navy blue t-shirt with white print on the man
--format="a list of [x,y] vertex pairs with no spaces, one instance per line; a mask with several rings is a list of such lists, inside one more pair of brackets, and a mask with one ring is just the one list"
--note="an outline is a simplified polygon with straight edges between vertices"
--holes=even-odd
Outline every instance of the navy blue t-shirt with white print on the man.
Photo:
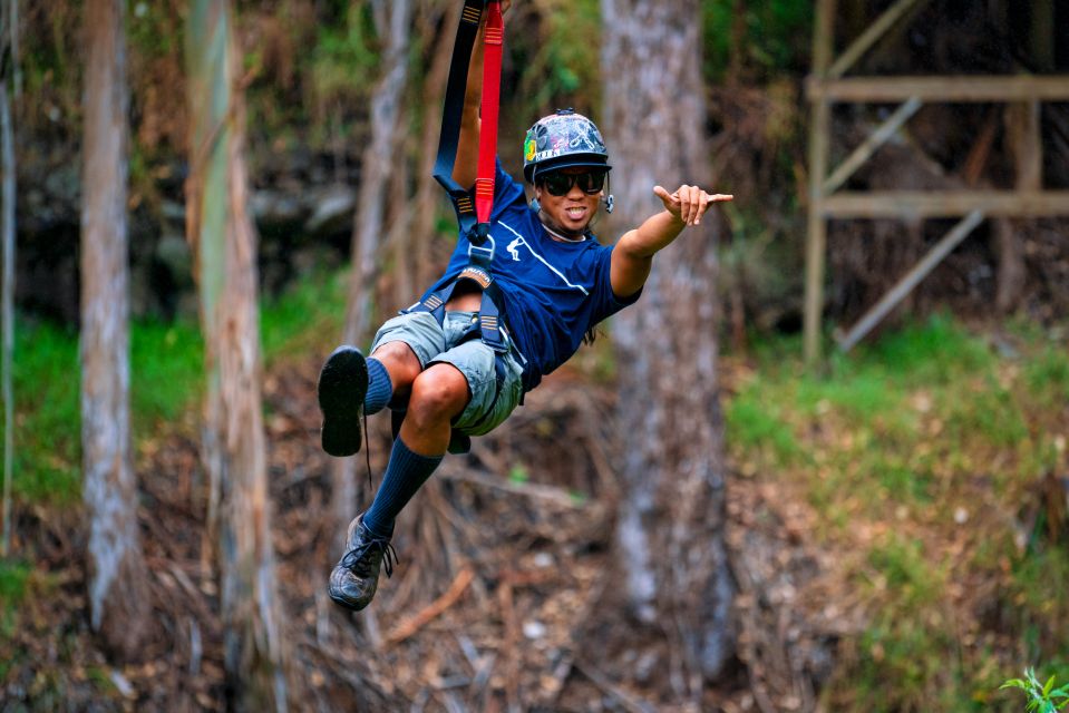
[[[612,247],[593,237],[581,243],[555,241],[527,205],[523,186],[497,162],[494,182],[490,273],[502,291],[505,323],[527,360],[524,385],[529,391],[580,348],[594,324],[633,304],[640,293],[619,299],[609,281]],[[468,264],[469,242],[460,236],[445,274],[428,290],[448,285]]]

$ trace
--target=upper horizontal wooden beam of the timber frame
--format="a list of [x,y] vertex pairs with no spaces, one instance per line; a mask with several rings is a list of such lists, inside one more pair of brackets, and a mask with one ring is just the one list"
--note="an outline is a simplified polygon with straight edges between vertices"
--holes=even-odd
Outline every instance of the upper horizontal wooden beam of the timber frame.
[[1069,75],[849,77],[806,79],[812,101],[891,102],[916,97],[927,102],[1069,101]]

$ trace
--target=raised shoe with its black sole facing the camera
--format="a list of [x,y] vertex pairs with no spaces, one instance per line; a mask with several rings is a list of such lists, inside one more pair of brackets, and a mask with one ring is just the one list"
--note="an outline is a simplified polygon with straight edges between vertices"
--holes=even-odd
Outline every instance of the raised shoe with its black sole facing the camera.
[[356,346],[342,345],[319,372],[323,450],[343,458],[360,450],[360,417],[368,393],[368,362]]

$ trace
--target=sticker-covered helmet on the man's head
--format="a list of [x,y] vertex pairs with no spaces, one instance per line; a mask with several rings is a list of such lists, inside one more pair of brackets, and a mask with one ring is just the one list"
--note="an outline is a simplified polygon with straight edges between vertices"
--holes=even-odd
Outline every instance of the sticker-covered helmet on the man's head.
[[594,123],[571,109],[558,109],[527,129],[524,139],[524,177],[535,182],[535,173],[590,166],[610,170],[609,149]]

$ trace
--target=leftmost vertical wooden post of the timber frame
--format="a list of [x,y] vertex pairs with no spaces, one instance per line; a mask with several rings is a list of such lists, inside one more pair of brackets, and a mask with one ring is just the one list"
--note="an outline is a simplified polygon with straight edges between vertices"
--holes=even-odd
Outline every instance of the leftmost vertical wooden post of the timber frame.
[[[813,76],[824,79],[832,64],[835,0],[817,0],[813,36]],[[824,305],[824,252],[827,225],[824,221],[824,178],[827,173],[832,108],[823,92],[810,94],[809,120],[809,225],[806,240],[806,297],[803,315],[806,364],[820,356],[820,311]]]

